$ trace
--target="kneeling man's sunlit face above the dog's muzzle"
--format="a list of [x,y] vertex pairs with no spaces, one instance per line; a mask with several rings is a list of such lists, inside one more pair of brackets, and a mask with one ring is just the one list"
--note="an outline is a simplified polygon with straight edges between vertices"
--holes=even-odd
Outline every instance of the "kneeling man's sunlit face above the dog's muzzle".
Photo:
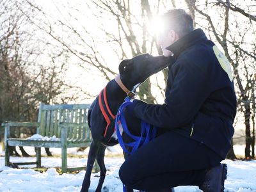
[[173,42],[177,41],[179,39],[179,36],[175,31],[170,29],[169,31],[166,31],[165,33],[159,33],[158,35],[158,45],[160,45],[163,55],[165,57],[172,56],[172,52],[167,50],[166,47],[169,47],[173,44]]

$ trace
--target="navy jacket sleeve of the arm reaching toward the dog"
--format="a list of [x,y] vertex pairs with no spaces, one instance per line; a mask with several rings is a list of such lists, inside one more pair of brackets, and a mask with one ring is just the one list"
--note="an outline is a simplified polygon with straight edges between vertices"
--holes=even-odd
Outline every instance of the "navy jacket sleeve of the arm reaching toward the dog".
[[[197,60],[198,61],[198,60]],[[134,103],[134,115],[148,124],[173,129],[191,123],[209,95],[209,67],[204,62],[191,62],[188,57],[177,60],[169,69],[172,87],[164,104]],[[168,81],[171,81],[168,77]]]

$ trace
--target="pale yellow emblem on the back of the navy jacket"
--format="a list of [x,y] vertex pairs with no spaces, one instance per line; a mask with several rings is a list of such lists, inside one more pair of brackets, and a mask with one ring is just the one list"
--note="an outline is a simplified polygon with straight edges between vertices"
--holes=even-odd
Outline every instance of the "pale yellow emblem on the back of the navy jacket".
[[230,81],[233,81],[233,74],[232,74],[231,66],[230,66],[230,63],[229,63],[227,57],[225,56],[225,54],[223,54],[223,52],[220,51],[220,49],[216,45],[214,45],[212,47],[212,49],[214,51],[214,54],[216,55],[216,58],[218,59],[220,65],[221,65],[221,67],[228,74]]

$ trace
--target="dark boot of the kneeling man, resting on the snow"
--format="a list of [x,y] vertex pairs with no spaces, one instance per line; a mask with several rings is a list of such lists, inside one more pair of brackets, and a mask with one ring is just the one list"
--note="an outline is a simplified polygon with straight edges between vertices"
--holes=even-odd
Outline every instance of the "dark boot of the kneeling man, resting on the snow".
[[207,170],[201,189],[204,192],[224,192],[224,182],[227,179],[227,164],[219,164]]

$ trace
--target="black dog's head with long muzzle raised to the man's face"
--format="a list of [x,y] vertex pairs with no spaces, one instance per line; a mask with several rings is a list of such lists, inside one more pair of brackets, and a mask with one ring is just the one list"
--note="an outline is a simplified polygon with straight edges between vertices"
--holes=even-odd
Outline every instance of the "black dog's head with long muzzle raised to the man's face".
[[119,74],[122,83],[129,89],[143,83],[149,76],[168,67],[170,58],[141,54],[131,60],[124,60],[119,65]]

